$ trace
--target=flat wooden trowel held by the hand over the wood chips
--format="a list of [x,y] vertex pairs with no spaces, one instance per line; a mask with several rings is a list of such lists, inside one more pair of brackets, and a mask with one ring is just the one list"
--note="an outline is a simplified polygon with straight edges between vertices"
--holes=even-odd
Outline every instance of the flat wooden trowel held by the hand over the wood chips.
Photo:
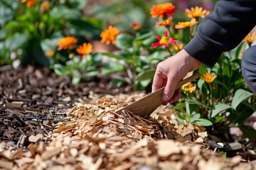
[[[200,73],[196,72],[191,77],[179,81],[176,86],[176,89],[181,88],[183,84],[186,84],[192,81],[193,79],[197,79],[198,77],[200,77]],[[134,113],[134,115],[139,115],[142,117],[149,116],[156,110],[156,108],[158,108],[161,105],[161,103],[164,103],[161,97],[163,92],[164,87],[158,89],[157,91],[154,91],[153,93],[145,96],[144,98],[141,98],[139,101],[135,101],[134,103],[124,106],[123,108],[119,108],[115,112],[122,113],[123,110],[127,110]]]

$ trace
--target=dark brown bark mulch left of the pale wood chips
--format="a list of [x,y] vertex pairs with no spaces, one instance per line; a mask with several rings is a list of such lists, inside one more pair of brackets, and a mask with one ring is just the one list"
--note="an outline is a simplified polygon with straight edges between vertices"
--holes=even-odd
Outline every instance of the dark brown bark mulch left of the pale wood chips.
[[46,134],[75,103],[132,89],[114,88],[106,80],[70,83],[45,67],[0,68],[0,140],[27,147],[30,135]]

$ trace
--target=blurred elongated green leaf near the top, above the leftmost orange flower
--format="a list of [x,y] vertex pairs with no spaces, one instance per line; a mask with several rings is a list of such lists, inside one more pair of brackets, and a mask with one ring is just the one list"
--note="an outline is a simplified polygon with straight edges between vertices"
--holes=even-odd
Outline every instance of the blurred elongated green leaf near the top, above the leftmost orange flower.
[[50,11],[50,15],[55,16],[56,18],[65,18],[65,19],[78,19],[81,16],[81,13],[77,9],[70,9],[65,6],[57,6]]

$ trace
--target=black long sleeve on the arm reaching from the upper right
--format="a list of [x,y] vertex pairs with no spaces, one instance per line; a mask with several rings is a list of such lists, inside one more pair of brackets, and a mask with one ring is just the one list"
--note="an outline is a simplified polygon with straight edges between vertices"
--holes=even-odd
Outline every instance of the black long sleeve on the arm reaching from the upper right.
[[256,24],[256,0],[218,1],[186,45],[189,55],[213,66],[222,52],[235,48]]

